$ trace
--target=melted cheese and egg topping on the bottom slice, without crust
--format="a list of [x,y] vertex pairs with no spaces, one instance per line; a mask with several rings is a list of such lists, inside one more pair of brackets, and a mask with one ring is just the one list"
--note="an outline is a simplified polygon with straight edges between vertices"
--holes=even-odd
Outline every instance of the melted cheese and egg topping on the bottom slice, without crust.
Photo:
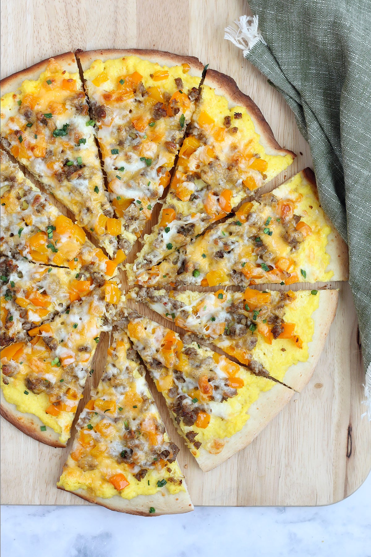
[[[156,423],[161,428],[163,424],[139,365],[127,357],[128,349],[130,343],[125,333],[113,333],[105,374],[97,389],[92,391],[92,398],[80,415],[72,451],[58,482],[59,486],[69,491],[82,488],[104,499],[115,495],[133,499],[138,495],[153,495],[157,491],[168,491],[170,494],[185,491],[182,485],[184,477],[177,462],[157,460],[157,453],[153,453],[156,446],[151,445],[145,424]],[[149,404],[145,403],[145,409],[141,409],[145,400]],[[106,405],[110,407],[108,411]],[[109,428],[107,435],[100,428],[102,421]],[[137,434],[138,428],[140,436]],[[138,442],[145,447],[143,455],[139,452],[133,463],[125,462],[120,457],[123,451],[128,450],[125,435],[129,430],[137,434]],[[90,441],[86,442],[87,438]],[[159,434],[157,447],[168,441],[166,432]],[[161,451],[161,448],[158,450]],[[88,467],[84,467],[84,458],[90,459]],[[146,458],[152,459],[152,462],[146,463]],[[135,474],[142,468],[147,473],[139,481]],[[122,490],[117,490],[110,482],[110,478],[117,474],[123,474],[128,482]],[[164,486],[157,485],[157,482],[164,480]]]

